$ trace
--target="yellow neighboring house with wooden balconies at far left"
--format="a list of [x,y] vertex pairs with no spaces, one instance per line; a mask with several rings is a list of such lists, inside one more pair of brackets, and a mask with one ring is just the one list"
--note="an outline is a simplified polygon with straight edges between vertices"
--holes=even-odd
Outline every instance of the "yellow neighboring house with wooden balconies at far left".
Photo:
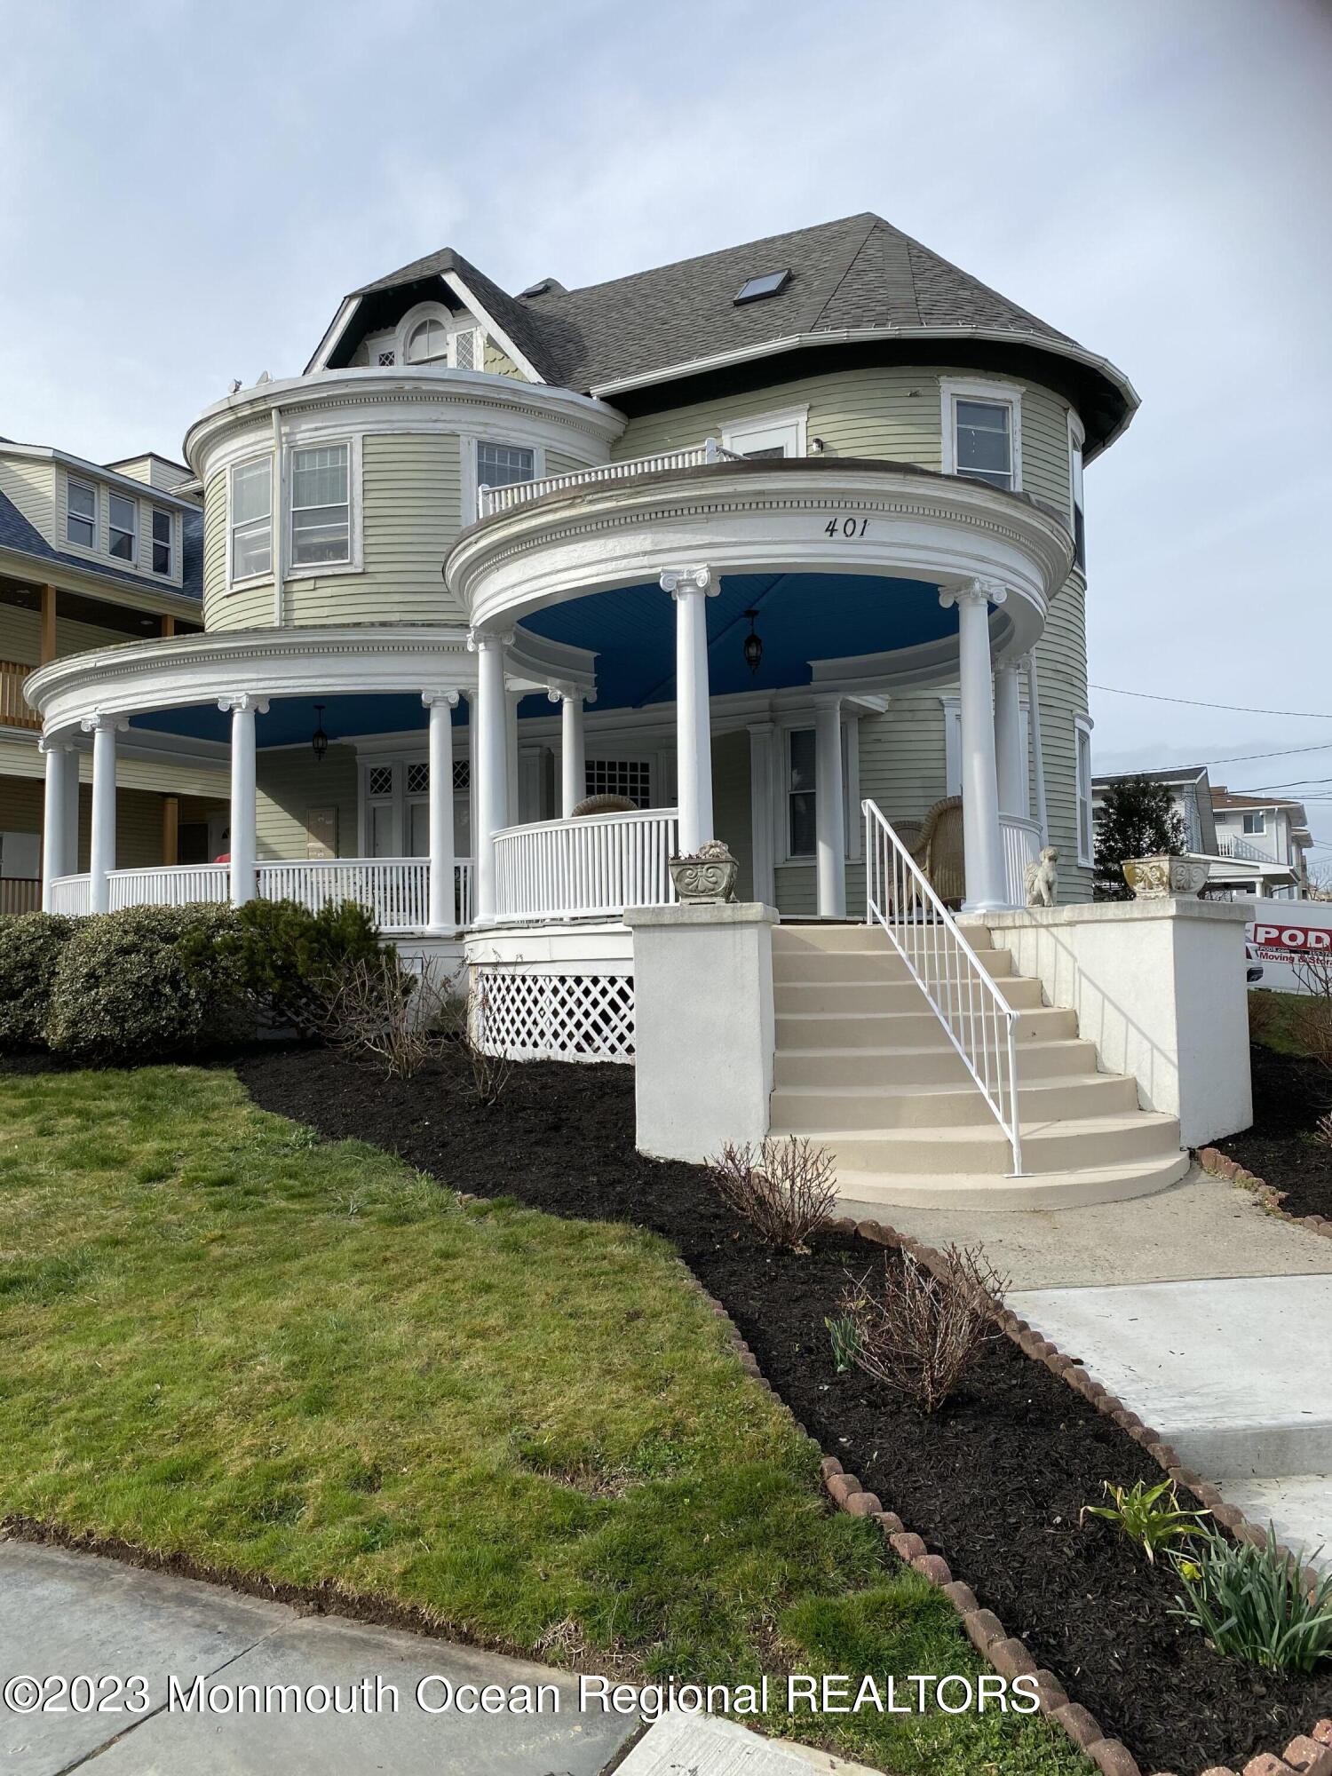
[[[73,654],[201,632],[202,511],[190,483],[190,471],[163,456],[92,464],[0,440],[0,911],[39,904],[46,760],[23,680]],[[71,870],[89,867],[91,765],[80,751],[82,787],[71,783],[66,797]],[[121,863],[217,854],[226,748],[135,733],[121,748],[117,783]]]

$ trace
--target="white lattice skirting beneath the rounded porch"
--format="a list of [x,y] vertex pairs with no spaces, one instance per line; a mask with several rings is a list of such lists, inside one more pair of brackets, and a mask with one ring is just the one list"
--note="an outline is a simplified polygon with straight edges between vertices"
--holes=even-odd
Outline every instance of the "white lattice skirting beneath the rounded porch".
[[634,1060],[634,977],[472,970],[472,1037],[510,1060]]

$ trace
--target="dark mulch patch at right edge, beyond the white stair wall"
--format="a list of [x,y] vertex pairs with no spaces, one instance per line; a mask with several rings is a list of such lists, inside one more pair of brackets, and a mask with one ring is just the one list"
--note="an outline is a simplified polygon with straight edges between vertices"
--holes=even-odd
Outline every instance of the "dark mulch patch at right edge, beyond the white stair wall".
[[1332,1110],[1332,1073],[1305,1055],[1279,1055],[1254,1043],[1254,1126],[1217,1146],[1273,1190],[1288,1215],[1332,1220],[1332,1147],[1314,1140],[1320,1115]]

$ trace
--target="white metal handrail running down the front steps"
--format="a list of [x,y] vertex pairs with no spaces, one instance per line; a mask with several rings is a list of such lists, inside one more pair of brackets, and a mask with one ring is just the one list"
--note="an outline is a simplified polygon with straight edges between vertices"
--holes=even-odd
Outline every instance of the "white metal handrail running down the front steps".
[[906,963],[991,1115],[1009,1137],[1012,1172],[1019,1176],[1019,1014],[980,966],[961,925],[925,881],[877,805],[863,801],[860,806],[865,815],[865,924],[877,920]]

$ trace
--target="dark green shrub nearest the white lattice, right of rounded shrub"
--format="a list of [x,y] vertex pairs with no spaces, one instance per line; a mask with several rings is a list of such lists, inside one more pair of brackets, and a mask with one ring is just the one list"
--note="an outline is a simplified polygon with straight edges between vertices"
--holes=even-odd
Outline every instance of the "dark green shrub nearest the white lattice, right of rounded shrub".
[[355,900],[318,913],[297,900],[249,900],[226,941],[265,1016],[300,1035],[325,1028],[343,970],[375,966],[382,954],[375,920]]

